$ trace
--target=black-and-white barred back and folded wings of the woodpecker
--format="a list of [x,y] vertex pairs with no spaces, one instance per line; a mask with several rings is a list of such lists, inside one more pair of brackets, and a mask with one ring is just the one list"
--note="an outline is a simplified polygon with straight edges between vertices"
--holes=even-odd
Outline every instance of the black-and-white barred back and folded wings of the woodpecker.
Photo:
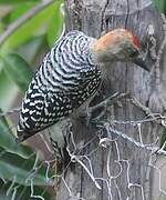
[[101,71],[89,51],[92,40],[73,31],[46,54],[22,102],[19,141],[69,117],[96,92]]

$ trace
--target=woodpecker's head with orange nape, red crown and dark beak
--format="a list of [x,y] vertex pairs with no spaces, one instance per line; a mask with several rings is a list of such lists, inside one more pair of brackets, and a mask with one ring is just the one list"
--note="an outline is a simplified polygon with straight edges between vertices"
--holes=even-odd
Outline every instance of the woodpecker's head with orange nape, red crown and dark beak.
[[94,42],[94,57],[98,62],[133,62],[149,70],[144,60],[141,42],[126,29],[115,29]]

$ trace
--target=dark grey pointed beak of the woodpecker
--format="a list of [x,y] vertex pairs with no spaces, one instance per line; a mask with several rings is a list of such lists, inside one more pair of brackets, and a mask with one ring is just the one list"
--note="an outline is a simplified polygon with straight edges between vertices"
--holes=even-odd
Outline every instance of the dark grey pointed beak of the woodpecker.
[[147,53],[141,52],[138,57],[133,60],[133,63],[139,66],[141,68],[149,71],[152,68],[152,60],[148,58]]

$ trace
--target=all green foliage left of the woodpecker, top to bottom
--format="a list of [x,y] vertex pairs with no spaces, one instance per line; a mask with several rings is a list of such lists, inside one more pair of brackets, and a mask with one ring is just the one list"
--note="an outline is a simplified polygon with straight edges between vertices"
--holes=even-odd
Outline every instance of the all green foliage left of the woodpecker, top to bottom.
[[[10,6],[9,11],[0,19],[0,38],[9,26],[17,23],[27,12],[42,2],[0,0],[0,7]],[[0,113],[2,110],[10,110],[13,103],[18,102],[18,94],[25,92],[34,68],[62,34],[64,28],[62,3],[63,0],[56,0],[44,7],[0,44]],[[0,116],[0,199],[12,199],[15,187],[13,199],[31,199],[33,191],[34,194],[50,200],[51,194],[45,186],[52,184],[52,180],[46,179],[48,176],[52,177],[51,170],[48,174],[48,167],[40,161],[37,152],[15,142],[14,132],[15,126],[12,121]]]

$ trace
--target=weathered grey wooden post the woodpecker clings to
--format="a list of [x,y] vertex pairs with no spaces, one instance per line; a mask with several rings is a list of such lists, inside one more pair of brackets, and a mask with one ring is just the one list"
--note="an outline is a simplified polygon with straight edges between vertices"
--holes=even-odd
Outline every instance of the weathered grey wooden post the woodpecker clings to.
[[[144,46],[147,41],[148,26],[153,24],[157,48],[164,38],[160,13],[151,0],[66,0],[65,9],[68,31],[81,30],[87,36],[98,38],[110,30],[125,28],[135,32]],[[152,112],[163,113],[164,106],[156,86],[155,64],[152,66],[151,72],[131,66],[132,63],[113,64],[104,80],[100,98],[96,99],[105,99],[115,92],[129,93]],[[160,60],[160,72],[163,87],[166,83],[164,58]],[[107,109],[103,120],[118,120],[120,124],[114,121],[111,126],[114,130],[126,133],[141,144],[152,144],[164,131],[159,123],[127,123],[144,120],[145,117],[145,108],[121,100],[121,104],[114,103]],[[159,193],[162,194],[159,189],[158,196],[153,193],[153,187],[158,188],[160,180],[156,178],[155,163],[149,162],[151,151],[137,147],[134,141],[128,141],[122,136],[117,137],[116,133],[111,133],[112,141],[101,147],[98,142],[105,137],[104,129],[91,123],[85,126],[80,119],[73,124],[73,134],[77,147],[74,154],[84,156],[80,160],[90,171],[93,169],[91,173],[96,178],[101,189],[87,170],[75,161],[73,168],[66,169],[65,181],[61,181],[58,200],[156,200]]]

